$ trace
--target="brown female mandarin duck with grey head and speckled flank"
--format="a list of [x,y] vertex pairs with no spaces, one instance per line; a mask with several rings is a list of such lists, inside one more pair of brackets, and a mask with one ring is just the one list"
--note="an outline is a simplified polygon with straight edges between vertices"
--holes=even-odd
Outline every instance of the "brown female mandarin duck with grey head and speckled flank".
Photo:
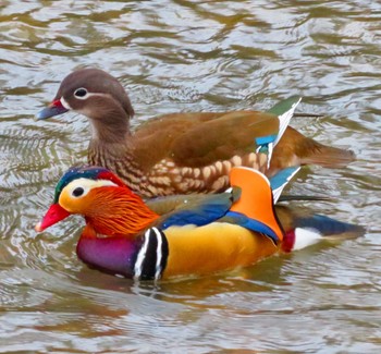
[[287,127],[299,100],[293,97],[268,112],[164,114],[131,132],[134,110],[122,85],[101,70],[83,69],[63,80],[37,119],[70,110],[85,114],[93,127],[89,163],[107,167],[140,196],[153,197],[222,192],[236,166],[271,176],[292,166],[353,161],[352,151],[323,146]]

